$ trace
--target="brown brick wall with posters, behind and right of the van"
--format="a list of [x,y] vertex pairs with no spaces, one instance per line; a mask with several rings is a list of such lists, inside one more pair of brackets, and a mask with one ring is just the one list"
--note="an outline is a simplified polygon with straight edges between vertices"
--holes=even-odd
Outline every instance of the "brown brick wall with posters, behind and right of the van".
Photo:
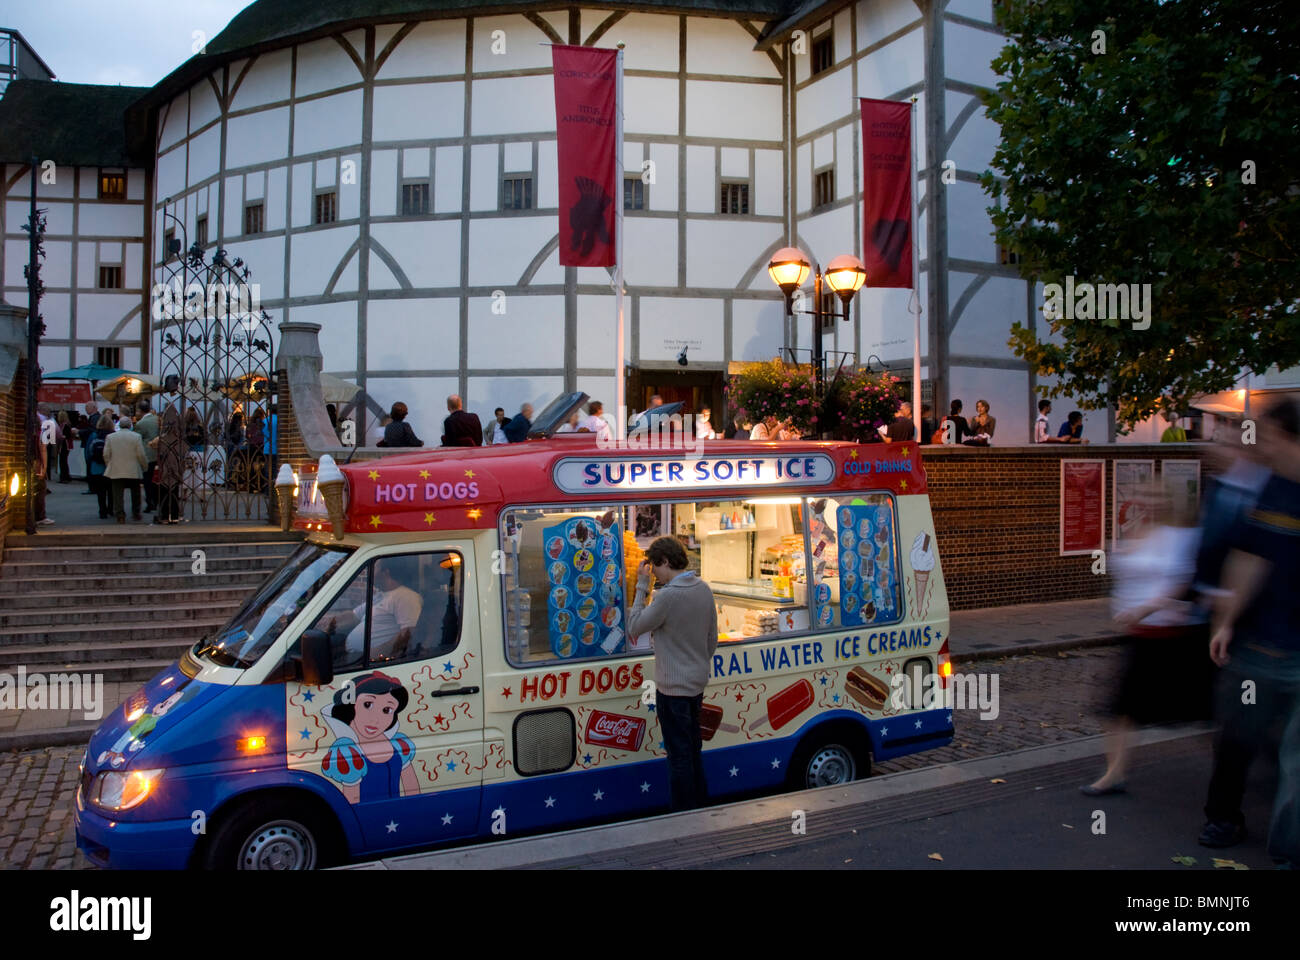
[[[1206,445],[1089,444],[1022,447],[926,446],[948,602],[954,610],[1110,593],[1110,576],[1092,572],[1091,555],[1061,557],[1061,460],[1106,462],[1105,549],[1112,536],[1117,459],[1201,459]],[[1201,467],[1201,485],[1205,484]]]

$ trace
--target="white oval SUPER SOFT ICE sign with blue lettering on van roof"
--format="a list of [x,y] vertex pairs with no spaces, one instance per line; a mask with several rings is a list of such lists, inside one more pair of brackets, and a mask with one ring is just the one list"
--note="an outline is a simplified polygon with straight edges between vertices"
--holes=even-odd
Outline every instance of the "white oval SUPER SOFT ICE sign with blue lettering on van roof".
[[701,457],[564,459],[555,485],[566,493],[611,490],[701,490],[723,487],[805,487],[828,484],[835,463],[826,454],[789,457]]

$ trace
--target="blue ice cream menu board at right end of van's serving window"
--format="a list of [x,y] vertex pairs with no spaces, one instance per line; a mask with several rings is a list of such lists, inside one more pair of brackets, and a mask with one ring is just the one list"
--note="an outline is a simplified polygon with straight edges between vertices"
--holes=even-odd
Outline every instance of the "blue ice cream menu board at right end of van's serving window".
[[[840,541],[840,623],[852,627],[894,619],[897,579],[889,505],[841,503],[835,519]],[[814,600],[820,596],[815,593]]]

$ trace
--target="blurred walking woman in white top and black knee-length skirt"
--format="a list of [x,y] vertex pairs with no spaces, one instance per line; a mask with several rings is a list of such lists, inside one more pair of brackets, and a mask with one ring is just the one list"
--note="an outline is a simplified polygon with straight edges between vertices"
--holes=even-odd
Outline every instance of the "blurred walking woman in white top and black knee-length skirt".
[[1154,485],[1140,496],[1153,523],[1115,552],[1112,611],[1123,627],[1127,662],[1110,708],[1106,770],[1079,790],[1122,793],[1132,731],[1148,723],[1208,719],[1214,665],[1206,656],[1209,611],[1193,601],[1200,528],[1195,506]]

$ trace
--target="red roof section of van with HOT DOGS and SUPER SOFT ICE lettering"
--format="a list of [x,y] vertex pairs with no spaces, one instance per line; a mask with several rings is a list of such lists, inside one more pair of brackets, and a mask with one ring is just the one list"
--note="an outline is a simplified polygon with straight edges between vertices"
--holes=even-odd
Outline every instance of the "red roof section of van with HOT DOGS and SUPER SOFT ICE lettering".
[[[438,447],[339,464],[347,532],[495,527],[504,506],[733,500],[849,490],[926,493],[918,444],[706,440],[692,449],[610,449],[594,434],[485,447]],[[308,463],[308,476],[316,464]],[[295,519],[307,528],[320,518]]]

